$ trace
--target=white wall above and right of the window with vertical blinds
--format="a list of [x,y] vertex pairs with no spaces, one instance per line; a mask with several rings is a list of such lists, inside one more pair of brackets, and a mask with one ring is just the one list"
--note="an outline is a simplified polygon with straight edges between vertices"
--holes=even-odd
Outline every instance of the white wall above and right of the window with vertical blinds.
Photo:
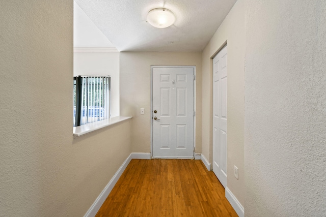
[[74,50],[73,76],[111,76],[111,116],[119,116],[119,52],[105,52],[110,50],[105,48],[74,48]]

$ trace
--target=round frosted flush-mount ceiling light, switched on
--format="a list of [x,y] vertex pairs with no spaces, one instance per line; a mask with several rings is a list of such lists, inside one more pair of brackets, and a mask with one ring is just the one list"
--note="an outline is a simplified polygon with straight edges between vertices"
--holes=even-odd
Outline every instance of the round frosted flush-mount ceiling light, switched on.
[[175,16],[169,9],[154,8],[148,12],[146,21],[156,28],[166,28],[175,22]]

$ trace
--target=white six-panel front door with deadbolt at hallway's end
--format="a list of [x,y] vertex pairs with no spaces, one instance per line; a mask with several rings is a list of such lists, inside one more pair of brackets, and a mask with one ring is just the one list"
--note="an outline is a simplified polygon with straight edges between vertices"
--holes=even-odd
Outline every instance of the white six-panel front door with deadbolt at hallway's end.
[[195,67],[152,67],[153,158],[194,158]]

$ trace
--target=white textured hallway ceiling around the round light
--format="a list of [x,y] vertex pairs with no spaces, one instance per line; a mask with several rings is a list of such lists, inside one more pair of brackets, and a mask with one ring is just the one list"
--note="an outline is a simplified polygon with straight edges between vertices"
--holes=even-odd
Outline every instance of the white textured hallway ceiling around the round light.
[[[202,51],[236,0],[75,0],[119,51]],[[148,11],[165,7],[174,25],[155,28]]]

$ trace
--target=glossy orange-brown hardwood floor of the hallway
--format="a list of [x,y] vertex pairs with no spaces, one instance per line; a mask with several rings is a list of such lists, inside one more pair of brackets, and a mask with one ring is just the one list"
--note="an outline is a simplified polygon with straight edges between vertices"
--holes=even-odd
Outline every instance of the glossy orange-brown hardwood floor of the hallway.
[[238,216],[200,160],[133,159],[96,216]]

